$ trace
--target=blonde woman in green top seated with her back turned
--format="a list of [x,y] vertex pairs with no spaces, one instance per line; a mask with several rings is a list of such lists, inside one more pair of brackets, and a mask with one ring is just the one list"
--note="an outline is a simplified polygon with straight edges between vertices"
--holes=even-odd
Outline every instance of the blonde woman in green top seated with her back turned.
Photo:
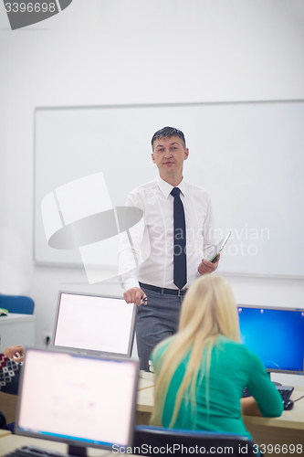
[[[282,399],[256,354],[239,343],[229,284],[202,276],[186,293],[176,335],[152,353],[156,372],[152,424],[247,433],[243,414],[278,417]],[[254,397],[241,399],[248,387]]]

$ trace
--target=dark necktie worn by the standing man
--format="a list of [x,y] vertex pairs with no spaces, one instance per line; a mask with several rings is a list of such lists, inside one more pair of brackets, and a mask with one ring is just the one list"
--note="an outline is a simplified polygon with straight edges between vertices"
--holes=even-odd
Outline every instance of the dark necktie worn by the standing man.
[[173,248],[173,282],[183,289],[187,282],[187,263],[186,263],[186,232],[183,211],[183,202],[180,197],[181,190],[173,187],[171,194],[174,197],[173,218],[174,218],[174,248]]

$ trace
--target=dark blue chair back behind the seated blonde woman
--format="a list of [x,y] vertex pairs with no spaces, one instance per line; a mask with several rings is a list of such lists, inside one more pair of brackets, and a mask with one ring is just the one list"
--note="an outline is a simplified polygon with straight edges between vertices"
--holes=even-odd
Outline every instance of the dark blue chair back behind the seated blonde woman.
[[[133,453],[150,456],[158,454],[158,457],[160,455],[184,457],[186,454],[253,457],[257,455],[257,449],[253,445],[254,442],[248,437],[231,433],[162,429],[162,427],[139,425],[134,430]],[[196,452],[195,446],[197,446]],[[154,452],[153,448],[155,448]],[[160,448],[162,448],[161,451]]]

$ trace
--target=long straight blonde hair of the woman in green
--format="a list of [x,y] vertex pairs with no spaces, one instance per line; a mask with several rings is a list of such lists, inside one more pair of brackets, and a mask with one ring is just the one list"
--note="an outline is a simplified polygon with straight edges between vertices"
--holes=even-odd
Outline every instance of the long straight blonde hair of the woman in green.
[[[183,358],[190,353],[183,381],[177,391],[173,416],[169,427],[173,427],[183,395],[191,388],[195,403],[195,385],[199,370],[200,379],[205,377],[208,388],[211,352],[218,335],[224,335],[239,342],[238,316],[236,301],[228,282],[220,276],[208,274],[196,280],[186,293],[178,332],[156,346],[156,354],[168,345],[156,367],[155,408],[151,423],[162,426],[162,410],[173,374]],[[204,361],[202,367],[202,356]]]

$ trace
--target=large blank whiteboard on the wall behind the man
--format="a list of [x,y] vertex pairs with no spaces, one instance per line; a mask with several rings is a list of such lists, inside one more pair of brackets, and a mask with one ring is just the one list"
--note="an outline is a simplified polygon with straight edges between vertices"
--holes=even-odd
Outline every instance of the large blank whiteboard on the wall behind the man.
[[206,189],[229,274],[303,277],[304,101],[189,103],[35,112],[34,259],[80,266],[78,250],[47,245],[41,201],[58,186],[102,172],[113,206],[154,179],[152,134],[183,131],[184,178]]

